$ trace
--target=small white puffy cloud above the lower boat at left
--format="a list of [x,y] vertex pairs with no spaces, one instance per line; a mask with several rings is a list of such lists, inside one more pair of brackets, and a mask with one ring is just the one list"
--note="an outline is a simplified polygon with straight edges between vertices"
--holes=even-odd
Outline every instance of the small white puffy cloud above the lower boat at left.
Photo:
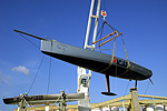
[[12,71],[18,71],[18,72],[22,72],[27,75],[30,74],[29,69],[27,69],[24,65],[19,65],[19,67],[14,67],[11,69]]

